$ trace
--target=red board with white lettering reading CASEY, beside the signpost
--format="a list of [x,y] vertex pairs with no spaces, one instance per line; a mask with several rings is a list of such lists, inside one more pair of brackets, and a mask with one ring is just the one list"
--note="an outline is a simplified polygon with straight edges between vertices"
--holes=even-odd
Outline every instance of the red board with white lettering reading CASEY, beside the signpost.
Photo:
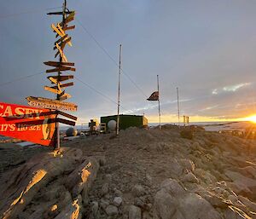
[[49,109],[0,102],[0,135],[54,146],[55,117]]

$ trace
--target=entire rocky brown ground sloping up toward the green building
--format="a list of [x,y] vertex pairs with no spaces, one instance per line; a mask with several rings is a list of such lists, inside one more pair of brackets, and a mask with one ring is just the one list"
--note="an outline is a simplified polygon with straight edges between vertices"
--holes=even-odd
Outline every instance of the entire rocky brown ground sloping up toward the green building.
[[131,128],[4,164],[0,217],[256,219],[256,141],[180,130]]

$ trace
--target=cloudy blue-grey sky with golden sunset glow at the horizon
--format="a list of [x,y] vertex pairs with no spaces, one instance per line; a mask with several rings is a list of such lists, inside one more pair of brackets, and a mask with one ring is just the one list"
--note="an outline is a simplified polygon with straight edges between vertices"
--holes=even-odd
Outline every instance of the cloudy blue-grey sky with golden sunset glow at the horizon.
[[[27,105],[26,96],[54,98],[44,61],[57,61],[52,23],[61,0],[0,1],[0,101]],[[256,2],[241,0],[67,0],[76,10],[68,61],[77,68],[68,101],[79,124],[120,112],[158,121],[147,101],[160,77],[162,122],[239,120],[256,114]],[[40,72],[43,72],[40,74]],[[33,75],[36,74],[36,75]],[[25,78],[26,76],[33,75]],[[22,79],[21,79],[22,78]],[[83,83],[82,83],[82,82]]]

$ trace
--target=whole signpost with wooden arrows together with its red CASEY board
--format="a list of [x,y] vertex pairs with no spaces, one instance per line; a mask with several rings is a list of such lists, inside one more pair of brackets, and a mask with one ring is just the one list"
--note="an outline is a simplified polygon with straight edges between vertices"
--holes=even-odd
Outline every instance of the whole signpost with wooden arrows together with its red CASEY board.
[[[46,61],[44,64],[51,69],[46,73],[56,73],[49,76],[49,83],[54,86],[44,86],[44,89],[55,94],[55,100],[44,97],[26,97],[31,107],[0,102],[0,135],[15,137],[20,140],[32,141],[44,146],[52,146],[60,149],[59,123],[75,125],[77,117],[62,111],[77,111],[78,106],[71,102],[65,102],[72,96],[67,94],[63,88],[73,86],[73,82],[62,84],[61,82],[73,79],[73,75],[62,75],[62,72],[75,72],[73,62],[68,62],[64,54],[66,45],[72,46],[67,31],[73,30],[75,26],[67,24],[74,20],[74,11],[67,9],[67,0],[64,0],[61,12],[48,13],[49,15],[62,15],[60,23],[52,24],[51,28],[56,33],[57,40],[54,50],[58,61]],[[58,118],[61,115],[72,120]]]

